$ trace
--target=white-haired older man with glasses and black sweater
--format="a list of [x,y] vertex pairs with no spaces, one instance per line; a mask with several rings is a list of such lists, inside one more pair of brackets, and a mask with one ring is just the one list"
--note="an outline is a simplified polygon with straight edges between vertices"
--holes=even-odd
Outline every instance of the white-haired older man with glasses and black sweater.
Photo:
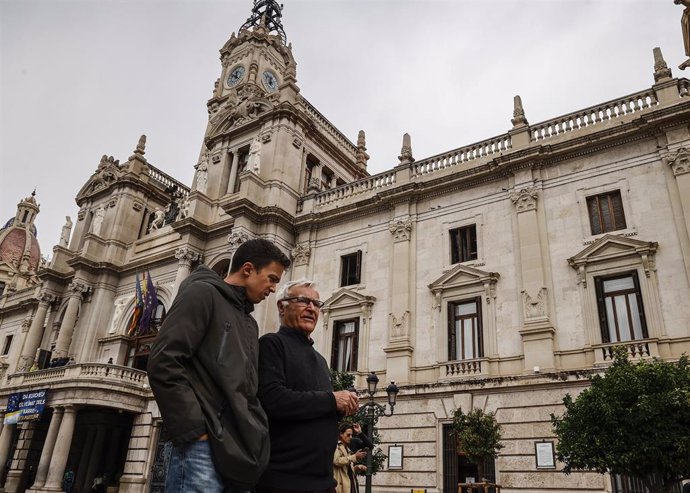
[[259,399],[271,458],[257,492],[330,493],[338,420],[357,410],[357,395],[333,392],[328,364],[313,347],[323,306],[314,283],[289,282],[277,299],[280,329],[259,339]]

